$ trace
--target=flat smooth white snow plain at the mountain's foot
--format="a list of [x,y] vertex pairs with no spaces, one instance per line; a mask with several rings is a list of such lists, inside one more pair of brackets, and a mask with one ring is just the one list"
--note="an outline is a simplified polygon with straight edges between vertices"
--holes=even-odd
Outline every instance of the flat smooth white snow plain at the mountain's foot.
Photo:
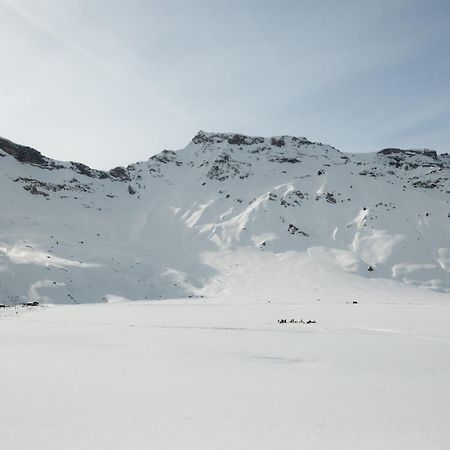
[[448,295],[408,292],[5,309],[0,447],[448,449]]

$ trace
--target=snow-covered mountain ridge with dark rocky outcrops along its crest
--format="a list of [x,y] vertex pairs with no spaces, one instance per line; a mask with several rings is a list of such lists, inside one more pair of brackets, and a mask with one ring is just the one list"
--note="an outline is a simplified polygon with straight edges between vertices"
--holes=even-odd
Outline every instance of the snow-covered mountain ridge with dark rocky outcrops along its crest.
[[0,139],[0,192],[0,303],[450,291],[450,155],[431,150],[201,131],[104,172]]

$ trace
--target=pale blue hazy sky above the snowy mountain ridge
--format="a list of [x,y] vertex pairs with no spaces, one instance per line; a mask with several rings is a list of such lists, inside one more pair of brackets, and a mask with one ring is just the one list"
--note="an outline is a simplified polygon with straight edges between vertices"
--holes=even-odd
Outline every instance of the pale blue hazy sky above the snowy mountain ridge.
[[0,0],[0,136],[99,169],[198,130],[450,151],[448,0]]

